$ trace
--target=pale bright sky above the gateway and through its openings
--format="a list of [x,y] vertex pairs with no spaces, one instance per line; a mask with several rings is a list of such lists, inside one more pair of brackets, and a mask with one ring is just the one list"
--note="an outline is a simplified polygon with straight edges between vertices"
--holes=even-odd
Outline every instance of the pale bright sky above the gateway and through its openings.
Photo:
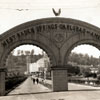
[[[100,0],[0,0],[0,34],[24,22],[55,17],[52,8],[56,11],[61,8],[60,17],[78,19],[100,27]],[[73,51],[100,56],[99,50],[88,45],[77,48]],[[36,53],[41,52],[36,47],[34,49]]]

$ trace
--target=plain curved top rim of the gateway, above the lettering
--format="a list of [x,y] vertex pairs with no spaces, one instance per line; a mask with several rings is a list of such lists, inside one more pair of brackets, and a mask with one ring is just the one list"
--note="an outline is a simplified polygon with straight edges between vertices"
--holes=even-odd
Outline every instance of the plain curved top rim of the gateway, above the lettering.
[[13,27],[12,29],[1,34],[0,39],[2,39],[2,37],[4,37],[7,34],[10,34],[12,32],[16,32],[16,31],[20,31],[21,29],[32,27],[32,25],[34,26],[36,24],[39,25],[39,24],[47,24],[47,23],[69,23],[69,24],[83,26],[83,27],[86,27],[86,28],[92,28],[93,30],[100,32],[99,27],[94,26],[94,25],[89,24],[89,23],[84,22],[84,21],[80,21],[80,20],[76,20],[76,19],[72,19],[72,18],[51,17],[51,18],[42,18],[42,19],[32,20],[32,21],[25,22],[25,23],[22,23],[20,25],[17,25],[15,27]]

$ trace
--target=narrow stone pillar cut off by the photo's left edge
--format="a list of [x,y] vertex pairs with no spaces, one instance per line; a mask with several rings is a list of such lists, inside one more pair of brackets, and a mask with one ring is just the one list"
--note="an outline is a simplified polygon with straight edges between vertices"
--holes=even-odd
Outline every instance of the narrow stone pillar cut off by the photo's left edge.
[[0,96],[5,95],[5,71],[6,68],[0,68]]

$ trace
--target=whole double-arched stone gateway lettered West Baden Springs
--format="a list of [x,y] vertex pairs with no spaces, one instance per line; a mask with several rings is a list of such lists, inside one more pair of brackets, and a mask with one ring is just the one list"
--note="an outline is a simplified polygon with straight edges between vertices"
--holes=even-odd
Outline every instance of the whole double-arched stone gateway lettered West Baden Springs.
[[51,60],[53,91],[68,90],[67,58],[80,44],[100,49],[100,29],[68,18],[46,18],[30,21],[0,35],[0,95],[5,94],[6,58],[22,44],[33,44],[45,50]]

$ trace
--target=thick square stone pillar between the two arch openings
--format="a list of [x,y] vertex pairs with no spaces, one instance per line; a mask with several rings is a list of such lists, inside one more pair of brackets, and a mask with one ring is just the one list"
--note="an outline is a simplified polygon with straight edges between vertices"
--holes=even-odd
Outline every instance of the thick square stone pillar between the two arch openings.
[[53,91],[68,91],[67,67],[51,67]]

